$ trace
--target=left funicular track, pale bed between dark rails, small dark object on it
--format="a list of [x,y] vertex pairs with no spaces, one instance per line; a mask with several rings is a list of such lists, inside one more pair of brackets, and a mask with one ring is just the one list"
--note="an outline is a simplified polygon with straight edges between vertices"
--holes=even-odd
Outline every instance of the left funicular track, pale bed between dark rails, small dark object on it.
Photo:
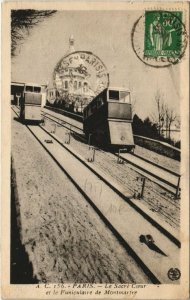
[[[120,190],[109,176],[105,178],[69,144],[64,144],[54,133],[41,126],[27,127],[151,281],[169,283],[168,270],[174,266],[179,268],[179,240],[140,210],[130,201],[126,191]],[[147,235],[152,236],[154,241],[147,241]]]

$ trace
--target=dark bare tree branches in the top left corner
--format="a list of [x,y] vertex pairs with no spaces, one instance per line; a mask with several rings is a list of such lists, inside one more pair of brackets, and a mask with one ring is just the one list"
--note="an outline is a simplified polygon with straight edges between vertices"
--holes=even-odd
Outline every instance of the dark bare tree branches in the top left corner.
[[29,35],[31,28],[55,12],[55,10],[34,9],[11,10],[11,55],[15,56],[17,46],[26,35]]

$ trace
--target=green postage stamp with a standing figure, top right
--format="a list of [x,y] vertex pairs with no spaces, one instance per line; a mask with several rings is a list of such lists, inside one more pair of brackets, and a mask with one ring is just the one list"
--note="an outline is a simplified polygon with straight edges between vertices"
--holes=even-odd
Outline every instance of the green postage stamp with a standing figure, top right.
[[182,50],[182,12],[146,11],[144,56],[179,57]]

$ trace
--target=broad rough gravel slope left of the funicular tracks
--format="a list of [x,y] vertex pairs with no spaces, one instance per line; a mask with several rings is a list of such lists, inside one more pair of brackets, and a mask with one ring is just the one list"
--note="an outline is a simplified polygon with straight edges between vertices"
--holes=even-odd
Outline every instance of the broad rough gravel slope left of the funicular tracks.
[[40,282],[148,283],[30,132],[12,122],[22,242]]

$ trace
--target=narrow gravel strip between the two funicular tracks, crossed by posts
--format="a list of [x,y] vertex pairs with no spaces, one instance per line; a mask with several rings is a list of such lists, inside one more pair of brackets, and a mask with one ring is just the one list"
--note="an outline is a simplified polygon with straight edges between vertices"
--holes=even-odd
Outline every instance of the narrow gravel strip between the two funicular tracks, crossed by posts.
[[[51,131],[54,128],[52,124],[52,122],[46,120],[45,128]],[[56,135],[64,142],[65,129],[57,127]],[[85,142],[81,142],[76,134],[72,134],[71,136],[71,146],[81,156],[87,158],[88,145]],[[128,188],[131,196],[134,192],[140,191],[142,183],[137,181],[139,174],[130,167],[130,164],[117,164],[117,158],[112,153],[96,150],[94,163],[105,174],[109,174],[115,181]],[[161,220],[164,220],[171,227],[179,229],[180,200],[176,200],[174,195],[165,191],[156,183],[146,179],[144,197],[141,201],[160,217]]]

